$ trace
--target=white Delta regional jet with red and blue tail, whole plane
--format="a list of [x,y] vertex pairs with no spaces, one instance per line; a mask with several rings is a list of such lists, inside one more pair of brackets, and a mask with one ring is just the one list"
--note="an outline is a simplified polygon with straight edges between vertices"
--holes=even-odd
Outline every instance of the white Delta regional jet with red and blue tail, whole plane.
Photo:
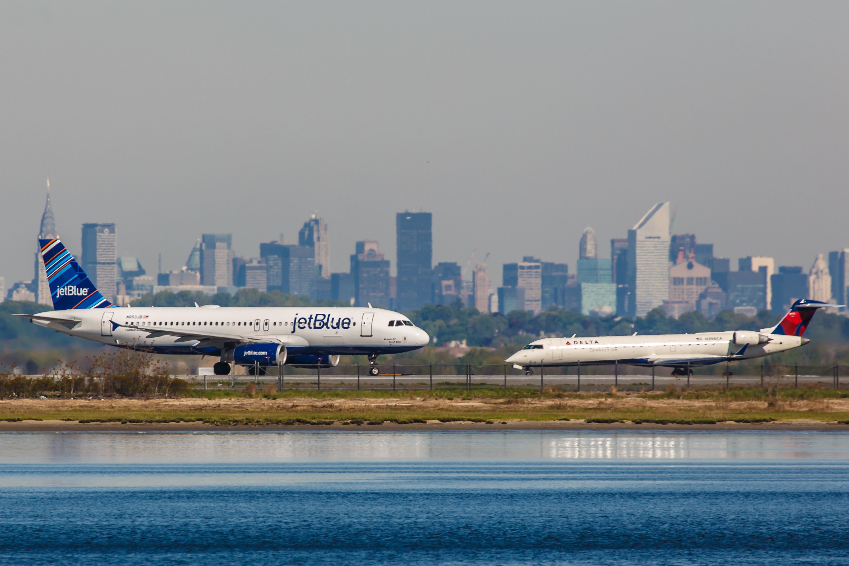
[[817,309],[826,305],[818,300],[797,300],[790,312],[773,328],[700,332],[693,334],[657,334],[654,336],[597,336],[593,338],[544,338],[507,358],[517,369],[531,373],[532,367],[602,365],[624,363],[634,366],[674,367],[673,375],[690,367],[708,366],[722,361],[749,360],[792,350],[806,345],[802,338]]

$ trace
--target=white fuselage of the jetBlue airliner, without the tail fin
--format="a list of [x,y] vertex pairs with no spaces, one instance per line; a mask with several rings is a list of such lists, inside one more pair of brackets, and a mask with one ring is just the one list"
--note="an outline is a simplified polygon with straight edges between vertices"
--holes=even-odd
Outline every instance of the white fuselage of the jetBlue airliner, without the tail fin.
[[[430,339],[424,330],[410,325],[408,317],[376,308],[205,305],[47,311],[40,315],[69,321],[33,320],[58,332],[101,344],[143,346],[163,354],[216,355],[229,340],[281,344],[291,354],[390,354],[416,350]],[[408,324],[389,326],[390,321]],[[161,329],[208,332],[215,338],[157,333]]]

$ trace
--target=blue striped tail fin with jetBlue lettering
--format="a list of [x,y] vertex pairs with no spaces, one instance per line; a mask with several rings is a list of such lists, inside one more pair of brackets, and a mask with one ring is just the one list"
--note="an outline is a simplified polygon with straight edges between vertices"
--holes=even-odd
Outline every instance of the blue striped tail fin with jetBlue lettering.
[[59,238],[38,240],[42,247],[44,269],[50,284],[50,298],[57,311],[71,309],[104,309],[112,306]]

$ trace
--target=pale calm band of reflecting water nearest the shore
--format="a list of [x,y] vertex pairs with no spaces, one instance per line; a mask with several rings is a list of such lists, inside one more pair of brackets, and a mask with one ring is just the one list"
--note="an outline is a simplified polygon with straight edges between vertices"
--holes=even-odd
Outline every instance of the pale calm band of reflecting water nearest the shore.
[[849,434],[822,432],[4,433],[0,462],[538,462],[849,459]]

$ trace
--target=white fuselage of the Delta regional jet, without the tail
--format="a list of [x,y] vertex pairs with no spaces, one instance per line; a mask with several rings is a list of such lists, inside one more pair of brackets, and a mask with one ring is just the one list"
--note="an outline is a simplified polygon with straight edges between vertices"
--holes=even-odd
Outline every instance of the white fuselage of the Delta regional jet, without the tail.
[[[749,334],[757,334],[748,331]],[[739,332],[737,333],[739,334]],[[774,354],[807,344],[807,339],[784,334],[760,334],[762,344],[737,344],[734,332],[546,338],[531,342],[507,359],[523,367],[577,363],[708,365]]]

